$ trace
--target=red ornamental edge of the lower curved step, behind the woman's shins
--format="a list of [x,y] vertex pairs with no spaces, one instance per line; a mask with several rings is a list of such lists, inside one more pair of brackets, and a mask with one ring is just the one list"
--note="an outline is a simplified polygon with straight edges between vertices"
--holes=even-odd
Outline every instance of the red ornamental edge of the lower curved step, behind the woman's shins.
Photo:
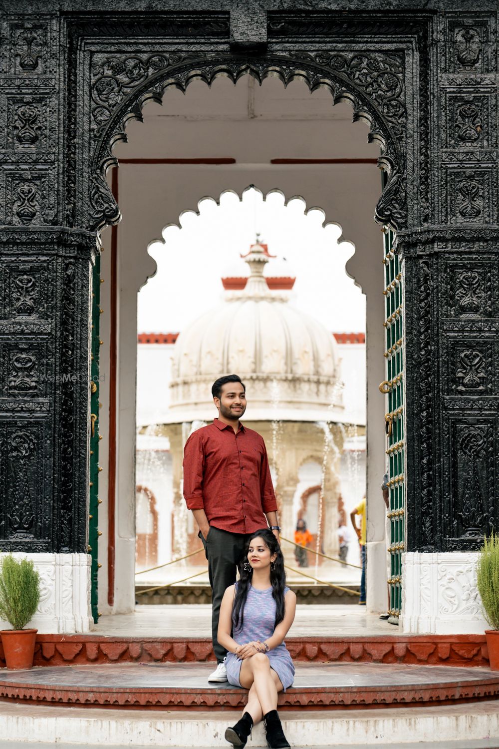
[[[459,681],[447,685],[427,684],[417,687],[401,685],[394,687],[304,687],[290,688],[286,694],[279,695],[279,706],[284,708],[357,708],[370,707],[406,707],[408,704],[428,705],[435,703],[453,703],[466,700],[486,700],[499,694],[499,679],[488,679],[482,682]],[[60,688],[57,685],[19,685],[2,684],[0,679],[0,697],[3,700],[30,700],[36,703],[58,703],[72,706],[104,707],[151,707],[151,708],[189,708],[204,709],[208,707],[235,709],[245,705],[246,693],[230,688],[150,688],[133,690],[115,687],[106,688]]]

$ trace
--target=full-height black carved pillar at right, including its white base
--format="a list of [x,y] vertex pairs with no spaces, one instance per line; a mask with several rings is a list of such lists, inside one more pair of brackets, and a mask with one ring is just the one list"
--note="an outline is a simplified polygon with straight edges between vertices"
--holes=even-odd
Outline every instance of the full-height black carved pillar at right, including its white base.
[[497,16],[441,13],[438,24],[434,203],[428,226],[399,233],[408,375],[402,627],[468,633],[485,628],[474,564],[499,521]]

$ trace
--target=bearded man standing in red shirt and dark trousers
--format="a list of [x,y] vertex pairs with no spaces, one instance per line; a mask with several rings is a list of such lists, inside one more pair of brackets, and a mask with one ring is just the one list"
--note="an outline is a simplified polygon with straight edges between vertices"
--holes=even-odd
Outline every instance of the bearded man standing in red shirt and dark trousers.
[[277,503],[265,443],[243,426],[246,389],[240,377],[219,377],[212,386],[218,418],[193,432],[183,460],[183,494],[199,526],[212,586],[212,642],[218,662],[209,682],[226,682],[226,650],[218,643],[218,614],[251,533],[267,524],[279,541]]

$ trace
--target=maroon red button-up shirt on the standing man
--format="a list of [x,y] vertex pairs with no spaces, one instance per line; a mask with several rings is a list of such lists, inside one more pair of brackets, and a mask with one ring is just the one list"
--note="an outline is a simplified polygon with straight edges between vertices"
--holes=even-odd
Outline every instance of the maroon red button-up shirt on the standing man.
[[263,513],[278,506],[263,437],[242,424],[236,434],[218,419],[194,431],[184,448],[183,495],[187,507],[203,509],[215,528],[266,528]]

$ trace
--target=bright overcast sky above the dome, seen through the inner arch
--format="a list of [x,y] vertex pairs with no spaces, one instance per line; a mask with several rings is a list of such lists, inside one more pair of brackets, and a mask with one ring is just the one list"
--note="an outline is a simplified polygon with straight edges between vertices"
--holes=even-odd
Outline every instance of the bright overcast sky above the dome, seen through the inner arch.
[[[181,229],[165,228],[165,243],[150,245],[158,270],[138,294],[138,332],[178,332],[218,306],[224,292],[221,276],[228,270],[235,274],[238,267],[245,275],[247,267],[239,253],[248,252],[257,231],[271,255],[279,261],[286,258],[296,276],[293,306],[333,332],[364,331],[365,297],[345,271],[355,248],[349,242],[337,243],[337,225],[322,227],[321,211],[305,216],[304,208],[299,199],[285,206],[284,197],[276,193],[263,201],[260,192],[251,189],[242,201],[224,193],[219,206],[207,199],[199,204],[199,216],[184,213]],[[273,275],[273,262],[277,260],[266,265],[266,276]]]

